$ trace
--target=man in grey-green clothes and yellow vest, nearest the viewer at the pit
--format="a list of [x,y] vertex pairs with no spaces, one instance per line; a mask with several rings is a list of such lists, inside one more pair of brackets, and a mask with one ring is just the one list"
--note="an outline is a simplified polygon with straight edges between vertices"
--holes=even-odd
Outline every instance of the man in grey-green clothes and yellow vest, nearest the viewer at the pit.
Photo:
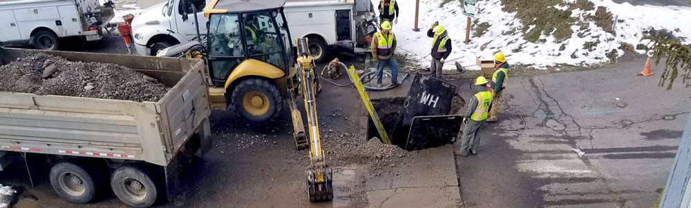
[[[466,126],[463,128],[461,149],[457,152],[460,156],[477,154],[477,148],[480,147],[482,127],[484,127],[484,121],[487,118],[487,112],[490,110],[492,103],[492,94],[487,91],[487,83],[484,76],[478,76],[475,79],[477,94],[468,103],[468,110],[466,110],[466,116],[463,118],[463,123]],[[470,144],[471,141],[472,145]]]

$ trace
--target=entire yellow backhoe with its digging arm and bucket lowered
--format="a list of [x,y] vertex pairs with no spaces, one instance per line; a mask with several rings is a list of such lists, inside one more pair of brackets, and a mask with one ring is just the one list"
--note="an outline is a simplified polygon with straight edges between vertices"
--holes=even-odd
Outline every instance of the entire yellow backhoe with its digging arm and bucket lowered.
[[[157,56],[205,59],[211,107],[236,112],[249,122],[266,123],[286,102],[296,147],[310,147],[311,168],[305,171],[308,197],[331,200],[332,170],[321,149],[316,114],[319,79],[307,52],[308,40],[296,40],[299,52],[293,52],[284,4],[285,0],[212,0],[204,8],[209,18],[206,37],[197,28],[196,41],[166,48]],[[187,6],[185,0],[182,6]],[[196,8],[189,6],[196,14]],[[309,140],[297,110],[299,95],[305,99]]]

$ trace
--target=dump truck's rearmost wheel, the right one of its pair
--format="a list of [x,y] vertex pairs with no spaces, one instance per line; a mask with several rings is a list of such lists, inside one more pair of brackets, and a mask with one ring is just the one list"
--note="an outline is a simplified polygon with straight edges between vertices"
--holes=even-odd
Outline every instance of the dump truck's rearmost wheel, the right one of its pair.
[[115,196],[132,207],[151,207],[158,197],[158,183],[151,171],[138,165],[123,165],[111,176]]

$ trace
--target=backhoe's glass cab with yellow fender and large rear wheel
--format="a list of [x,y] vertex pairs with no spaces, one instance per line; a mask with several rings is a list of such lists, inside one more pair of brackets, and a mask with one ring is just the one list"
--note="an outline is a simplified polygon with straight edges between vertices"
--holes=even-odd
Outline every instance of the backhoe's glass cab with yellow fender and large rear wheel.
[[295,74],[284,3],[215,0],[204,9],[212,106],[254,122],[281,110]]

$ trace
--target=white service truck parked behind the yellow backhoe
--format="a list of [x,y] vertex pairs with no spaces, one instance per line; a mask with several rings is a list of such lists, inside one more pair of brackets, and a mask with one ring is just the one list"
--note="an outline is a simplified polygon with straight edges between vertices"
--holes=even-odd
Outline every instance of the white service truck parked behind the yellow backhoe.
[[[202,8],[207,3],[167,0],[142,11],[132,21],[137,53],[155,56],[159,50],[194,39],[192,5],[198,8],[200,34],[205,35],[208,19]],[[287,1],[284,9],[291,37],[309,38],[310,52],[316,61],[322,61],[330,52],[367,52],[367,43],[377,32],[370,0],[293,0]]]

